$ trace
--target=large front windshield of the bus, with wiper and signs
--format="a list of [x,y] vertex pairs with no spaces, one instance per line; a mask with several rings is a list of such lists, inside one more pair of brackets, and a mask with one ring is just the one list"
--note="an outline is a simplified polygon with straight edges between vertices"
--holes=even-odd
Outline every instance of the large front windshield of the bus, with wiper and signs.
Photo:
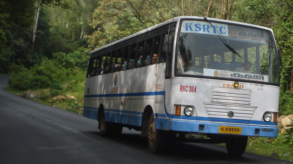
[[[279,65],[271,32],[221,23],[212,25],[183,20],[178,39],[177,76],[279,83]],[[240,56],[231,52],[220,38]]]

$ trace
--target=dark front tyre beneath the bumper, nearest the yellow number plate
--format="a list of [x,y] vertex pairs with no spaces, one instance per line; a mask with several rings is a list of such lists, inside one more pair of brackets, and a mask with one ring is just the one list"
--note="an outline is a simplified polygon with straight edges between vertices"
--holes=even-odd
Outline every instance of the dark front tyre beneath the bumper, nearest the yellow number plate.
[[242,156],[246,149],[247,136],[239,136],[238,138],[229,138],[226,141],[226,149],[229,155],[234,157]]

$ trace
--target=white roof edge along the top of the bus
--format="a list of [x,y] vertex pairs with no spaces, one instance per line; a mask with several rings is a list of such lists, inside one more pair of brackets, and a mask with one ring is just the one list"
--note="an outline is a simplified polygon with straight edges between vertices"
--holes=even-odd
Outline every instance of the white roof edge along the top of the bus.
[[[132,37],[135,37],[135,36],[138,36],[138,35],[143,34],[143,33],[145,33],[145,32],[151,31],[151,30],[153,30],[153,29],[156,29],[156,28],[161,27],[161,26],[163,26],[163,25],[166,25],[166,24],[168,24],[168,23],[171,23],[171,22],[178,22],[178,21],[180,21],[181,19],[197,19],[197,20],[203,20],[203,21],[206,21],[206,20],[204,19],[204,17],[197,17],[197,16],[179,16],[179,17],[175,17],[175,18],[172,18],[172,19],[167,20],[167,21],[165,21],[165,22],[162,22],[162,23],[160,23],[160,24],[158,24],[158,25],[154,25],[154,26],[149,27],[149,28],[147,28],[147,29],[144,29],[144,30],[142,30],[142,31],[140,31],[140,32],[137,32],[137,33],[135,33],[135,34],[132,34],[132,35],[126,36],[125,38],[119,39],[119,40],[114,41],[114,42],[112,42],[112,43],[109,43],[109,44],[107,44],[107,45],[105,45],[105,46],[102,46],[102,47],[100,47],[100,48],[97,48],[97,49],[91,51],[90,54],[95,53],[95,52],[97,52],[97,51],[99,51],[99,50],[102,50],[102,49],[104,49],[104,48],[107,48],[107,47],[113,46],[113,45],[115,45],[115,44],[117,44],[117,43],[120,43],[120,42],[126,41],[127,39],[131,39]],[[231,20],[222,20],[222,19],[217,19],[217,18],[208,18],[208,20],[211,21],[211,22],[220,22],[220,23],[228,23],[228,24],[239,25],[239,26],[255,27],[255,28],[264,29],[264,30],[267,30],[267,31],[270,31],[270,32],[273,33],[272,29],[270,29],[270,28],[268,28],[268,27],[263,27],[263,26],[253,25],[253,24],[249,24],[249,23],[236,22],[236,21],[231,21]]]

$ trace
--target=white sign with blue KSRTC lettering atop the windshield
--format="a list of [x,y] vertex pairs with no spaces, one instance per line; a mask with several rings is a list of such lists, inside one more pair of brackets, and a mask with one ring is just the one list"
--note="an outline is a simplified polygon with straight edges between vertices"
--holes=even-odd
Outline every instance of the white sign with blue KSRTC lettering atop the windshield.
[[[198,33],[198,34],[210,34],[228,36],[229,30],[228,25],[220,23],[212,23],[195,21],[195,20],[184,20],[182,21],[181,32]],[[219,32],[219,33],[218,33]]]

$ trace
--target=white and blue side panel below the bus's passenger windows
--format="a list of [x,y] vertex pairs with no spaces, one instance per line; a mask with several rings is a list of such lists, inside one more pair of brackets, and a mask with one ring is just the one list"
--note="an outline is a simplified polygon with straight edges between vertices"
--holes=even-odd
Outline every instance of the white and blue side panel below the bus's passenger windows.
[[103,104],[105,121],[141,126],[145,107],[154,110],[155,96],[164,97],[156,88],[156,65],[165,63],[86,78],[84,116],[96,119]]

